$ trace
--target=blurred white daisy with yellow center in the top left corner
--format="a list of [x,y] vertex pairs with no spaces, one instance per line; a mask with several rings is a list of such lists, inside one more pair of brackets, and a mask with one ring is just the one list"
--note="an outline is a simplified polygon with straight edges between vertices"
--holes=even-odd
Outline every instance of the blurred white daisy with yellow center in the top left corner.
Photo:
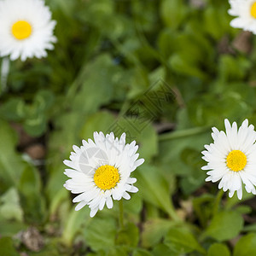
[[54,49],[56,22],[44,0],[1,0],[0,24],[1,56],[26,61],[45,57],[46,49]]

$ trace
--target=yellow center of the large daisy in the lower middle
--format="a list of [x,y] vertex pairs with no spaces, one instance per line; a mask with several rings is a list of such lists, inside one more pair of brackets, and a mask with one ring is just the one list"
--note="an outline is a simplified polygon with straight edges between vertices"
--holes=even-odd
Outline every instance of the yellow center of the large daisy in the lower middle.
[[112,189],[119,182],[119,171],[113,166],[100,166],[94,174],[94,182],[100,189]]

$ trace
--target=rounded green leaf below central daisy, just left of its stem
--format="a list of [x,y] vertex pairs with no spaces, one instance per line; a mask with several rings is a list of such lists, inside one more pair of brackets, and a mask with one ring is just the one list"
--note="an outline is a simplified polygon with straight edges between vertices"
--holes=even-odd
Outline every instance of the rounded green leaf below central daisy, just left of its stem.
[[114,246],[116,231],[113,218],[91,218],[90,224],[84,228],[84,238],[94,251],[98,251]]

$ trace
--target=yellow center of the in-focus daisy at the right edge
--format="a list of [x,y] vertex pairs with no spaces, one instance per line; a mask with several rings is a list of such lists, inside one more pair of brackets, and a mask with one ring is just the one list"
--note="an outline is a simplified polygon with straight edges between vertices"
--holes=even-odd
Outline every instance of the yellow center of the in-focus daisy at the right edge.
[[240,150],[232,150],[227,156],[227,166],[234,172],[241,171],[247,165],[247,156]]

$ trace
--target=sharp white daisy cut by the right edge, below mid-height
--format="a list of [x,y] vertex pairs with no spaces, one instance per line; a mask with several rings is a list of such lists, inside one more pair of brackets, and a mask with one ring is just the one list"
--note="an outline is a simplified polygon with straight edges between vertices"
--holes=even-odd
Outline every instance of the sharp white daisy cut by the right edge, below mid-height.
[[242,183],[248,193],[256,194],[256,132],[253,125],[248,126],[247,119],[238,131],[236,122],[231,126],[225,119],[224,124],[226,133],[212,128],[213,143],[205,145],[207,150],[202,151],[202,159],[208,163],[201,169],[211,170],[207,172],[206,181],[220,180],[218,189],[230,189],[230,197],[237,191],[241,200]]

